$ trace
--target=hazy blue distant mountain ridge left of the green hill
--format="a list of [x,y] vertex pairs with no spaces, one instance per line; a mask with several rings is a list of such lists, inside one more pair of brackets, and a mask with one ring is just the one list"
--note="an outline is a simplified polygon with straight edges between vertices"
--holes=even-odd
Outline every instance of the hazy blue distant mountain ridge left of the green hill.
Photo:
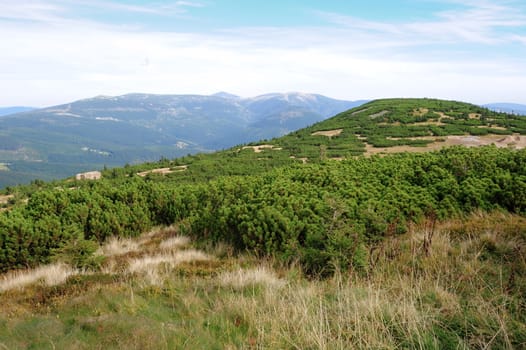
[[132,93],[8,115],[0,119],[0,187],[273,138],[364,102],[298,92]]

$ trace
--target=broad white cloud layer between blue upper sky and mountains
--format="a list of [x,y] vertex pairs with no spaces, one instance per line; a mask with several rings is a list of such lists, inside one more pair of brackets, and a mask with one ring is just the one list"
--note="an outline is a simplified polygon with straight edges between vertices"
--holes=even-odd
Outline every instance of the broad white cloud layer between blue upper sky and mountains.
[[[244,96],[295,90],[346,99],[426,96],[526,103],[519,93],[526,62],[497,50],[526,44],[524,33],[501,32],[524,27],[524,16],[487,1],[427,22],[394,25],[324,14],[332,26],[201,34],[141,32],[72,19],[65,16],[65,0],[3,4],[0,17],[11,20],[0,20],[0,80],[9,89],[0,105],[219,90]],[[178,1],[174,6],[177,12],[201,5]]]

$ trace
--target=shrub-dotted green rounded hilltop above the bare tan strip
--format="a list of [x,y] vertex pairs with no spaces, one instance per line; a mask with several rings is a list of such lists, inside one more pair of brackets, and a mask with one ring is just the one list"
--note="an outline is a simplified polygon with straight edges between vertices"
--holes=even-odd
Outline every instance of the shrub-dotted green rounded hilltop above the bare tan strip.
[[[326,137],[316,132],[342,130]],[[276,140],[291,155],[309,159],[349,157],[375,147],[425,146],[447,135],[526,134],[522,116],[468,103],[434,99],[385,99],[366,103]],[[427,137],[427,138],[426,138]],[[323,158],[323,157],[322,157]]]

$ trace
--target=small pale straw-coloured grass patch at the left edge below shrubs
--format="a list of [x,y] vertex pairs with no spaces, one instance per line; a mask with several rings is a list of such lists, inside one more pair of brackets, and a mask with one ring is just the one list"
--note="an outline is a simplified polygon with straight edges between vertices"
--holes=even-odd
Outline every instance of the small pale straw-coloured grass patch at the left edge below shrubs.
[[15,271],[8,273],[0,279],[0,292],[14,289],[23,289],[35,283],[46,286],[55,286],[64,283],[69,276],[81,272],[64,263],[44,265],[31,270]]

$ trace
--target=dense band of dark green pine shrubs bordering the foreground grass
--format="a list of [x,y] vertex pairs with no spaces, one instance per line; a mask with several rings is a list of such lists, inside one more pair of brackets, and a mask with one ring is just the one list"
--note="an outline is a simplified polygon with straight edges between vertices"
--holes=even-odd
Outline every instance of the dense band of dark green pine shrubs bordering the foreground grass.
[[368,247],[410,222],[479,208],[526,213],[526,151],[494,146],[297,164],[198,183],[114,175],[35,191],[2,212],[0,271],[175,223],[198,240],[326,274],[365,268]]

